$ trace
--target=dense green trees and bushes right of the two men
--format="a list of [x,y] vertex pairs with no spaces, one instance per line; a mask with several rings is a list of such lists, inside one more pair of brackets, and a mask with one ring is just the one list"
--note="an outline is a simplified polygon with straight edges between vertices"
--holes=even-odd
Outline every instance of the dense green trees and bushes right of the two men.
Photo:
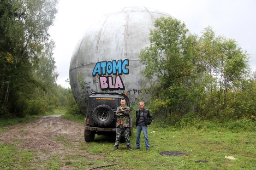
[[256,82],[249,54],[235,40],[216,36],[211,27],[191,35],[185,24],[161,17],[140,53],[149,79],[149,107],[155,117],[175,124],[193,119],[254,119]]

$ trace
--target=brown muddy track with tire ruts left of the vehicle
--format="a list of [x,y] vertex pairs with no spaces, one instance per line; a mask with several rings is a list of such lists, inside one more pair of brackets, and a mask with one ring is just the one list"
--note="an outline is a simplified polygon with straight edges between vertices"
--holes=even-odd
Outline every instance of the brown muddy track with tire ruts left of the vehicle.
[[[38,150],[60,149],[62,144],[54,140],[59,135],[65,135],[71,141],[79,141],[83,137],[83,125],[69,120],[60,119],[61,115],[42,116],[35,121],[14,125],[10,130],[0,135],[0,140],[16,146]],[[21,142],[15,142],[21,140]]]

